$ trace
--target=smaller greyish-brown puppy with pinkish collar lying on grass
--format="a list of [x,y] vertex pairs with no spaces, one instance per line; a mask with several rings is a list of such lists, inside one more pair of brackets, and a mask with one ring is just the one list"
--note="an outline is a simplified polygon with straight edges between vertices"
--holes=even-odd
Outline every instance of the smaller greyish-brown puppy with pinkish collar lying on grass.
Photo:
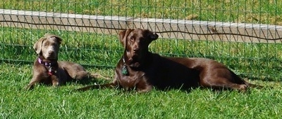
[[89,73],[79,64],[58,62],[59,46],[62,39],[54,34],[45,34],[33,48],[39,55],[33,64],[33,77],[26,89],[30,90],[35,83],[58,86],[70,80],[98,78],[97,73]]

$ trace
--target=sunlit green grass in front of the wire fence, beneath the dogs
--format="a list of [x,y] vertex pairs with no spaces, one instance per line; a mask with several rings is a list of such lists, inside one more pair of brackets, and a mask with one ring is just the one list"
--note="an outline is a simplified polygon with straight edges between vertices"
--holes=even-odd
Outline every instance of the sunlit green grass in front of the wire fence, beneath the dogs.
[[[7,68],[8,67],[8,68]],[[80,83],[59,88],[37,85],[25,91],[30,64],[6,64],[0,68],[1,118],[280,118],[281,83],[257,81],[273,89],[214,92],[209,89],[152,90],[146,94],[105,89],[72,92]],[[87,69],[112,73],[111,69]],[[98,79],[99,83],[106,82]],[[274,85],[275,84],[275,85]]]

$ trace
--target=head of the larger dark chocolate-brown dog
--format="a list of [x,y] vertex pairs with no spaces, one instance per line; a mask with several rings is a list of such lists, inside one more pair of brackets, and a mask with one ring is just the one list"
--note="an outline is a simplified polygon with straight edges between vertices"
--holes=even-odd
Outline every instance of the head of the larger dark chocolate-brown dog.
[[156,40],[159,36],[147,29],[126,29],[119,33],[119,40],[125,48],[126,56],[130,62],[137,62],[139,65],[145,53],[148,52],[149,43]]

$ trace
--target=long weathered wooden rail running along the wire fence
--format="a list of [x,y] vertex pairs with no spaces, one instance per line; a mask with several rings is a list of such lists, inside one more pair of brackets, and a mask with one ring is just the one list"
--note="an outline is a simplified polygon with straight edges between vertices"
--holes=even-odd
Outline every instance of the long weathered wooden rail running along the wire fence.
[[161,38],[180,38],[245,43],[281,43],[282,27],[232,22],[169,20],[122,16],[47,13],[42,11],[0,9],[1,26],[28,29],[118,34],[124,29],[150,29]]

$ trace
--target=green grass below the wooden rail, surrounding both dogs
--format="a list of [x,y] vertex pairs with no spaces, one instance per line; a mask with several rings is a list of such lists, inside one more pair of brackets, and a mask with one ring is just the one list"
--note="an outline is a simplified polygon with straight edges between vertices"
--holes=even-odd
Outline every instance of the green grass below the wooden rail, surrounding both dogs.
[[[63,38],[60,60],[83,64],[88,71],[114,78],[121,57],[117,36],[66,31],[4,28],[0,32],[0,116],[2,118],[280,118],[281,44],[233,43],[161,39],[149,49],[173,57],[209,57],[223,62],[263,89],[214,92],[209,89],[152,90],[147,94],[123,90],[72,92],[86,85],[73,82],[59,88],[23,88],[32,78],[36,58],[32,44],[45,32]],[[269,81],[263,81],[269,80]],[[274,80],[271,82],[270,80]],[[278,82],[277,82],[278,81]],[[109,80],[92,80],[92,83]],[[269,88],[273,87],[273,88]]]

